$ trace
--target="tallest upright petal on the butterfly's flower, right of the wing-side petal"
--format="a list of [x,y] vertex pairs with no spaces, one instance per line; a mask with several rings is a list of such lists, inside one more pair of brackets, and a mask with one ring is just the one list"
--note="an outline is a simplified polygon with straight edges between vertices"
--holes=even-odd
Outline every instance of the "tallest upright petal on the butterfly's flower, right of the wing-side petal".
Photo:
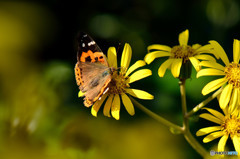
[[132,58],[132,48],[126,43],[123,48],[122,59],[121,59],[121,67],[122,71],[127,70]]

